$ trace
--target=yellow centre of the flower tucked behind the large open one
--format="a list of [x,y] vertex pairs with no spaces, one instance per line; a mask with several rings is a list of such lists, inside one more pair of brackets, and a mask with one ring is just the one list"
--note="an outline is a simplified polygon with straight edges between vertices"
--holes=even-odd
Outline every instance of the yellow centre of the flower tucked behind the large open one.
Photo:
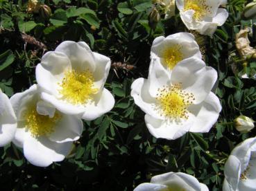
[[183,60],[183,54],[180,49],[181,46],[177,45],[167,48],[167,50],[164,51],[164,61],[169,69],[173,69],[178,62]]

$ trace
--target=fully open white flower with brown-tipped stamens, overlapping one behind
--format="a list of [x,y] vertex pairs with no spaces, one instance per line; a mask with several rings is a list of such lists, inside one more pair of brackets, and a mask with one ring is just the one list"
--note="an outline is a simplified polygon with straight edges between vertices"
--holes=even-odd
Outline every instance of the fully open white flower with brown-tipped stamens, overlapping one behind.
[[151,62],[148,79],[139,78],[131,87],[151,134],[176,139],[187,131],[210,131],[221,111],[219,98],[211,92],[216,71],[197,57],[181,61],[171,75],[157,59]]

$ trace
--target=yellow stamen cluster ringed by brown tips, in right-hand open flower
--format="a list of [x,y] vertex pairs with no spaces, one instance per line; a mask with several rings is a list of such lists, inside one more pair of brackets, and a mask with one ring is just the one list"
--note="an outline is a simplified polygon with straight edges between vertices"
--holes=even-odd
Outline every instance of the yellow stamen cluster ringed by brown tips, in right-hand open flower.
[[187,108],[195,100],[193,93],[186,93],[181,89],[181,84],[158,89],[157,100],[160,115],[172,120],[187,119],[189,111]]

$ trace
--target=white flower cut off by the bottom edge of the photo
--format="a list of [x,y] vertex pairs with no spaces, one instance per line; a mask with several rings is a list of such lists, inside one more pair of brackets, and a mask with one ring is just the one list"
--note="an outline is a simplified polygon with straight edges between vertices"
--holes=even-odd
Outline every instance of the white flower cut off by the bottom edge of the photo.
[[138,185],[134,191],[209,191],[207,186],[189,174],[169,172],[153,176],[150,183]]

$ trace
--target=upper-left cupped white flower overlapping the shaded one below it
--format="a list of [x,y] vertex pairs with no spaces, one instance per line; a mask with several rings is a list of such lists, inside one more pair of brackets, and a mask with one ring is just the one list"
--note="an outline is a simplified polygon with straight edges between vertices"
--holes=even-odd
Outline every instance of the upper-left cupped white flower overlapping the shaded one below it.
[[104,88],[110,58],[90,50],[85,42],[62,42],[37,64],[41,98],[63,113],[94,120],[114,107],[114,97]]

